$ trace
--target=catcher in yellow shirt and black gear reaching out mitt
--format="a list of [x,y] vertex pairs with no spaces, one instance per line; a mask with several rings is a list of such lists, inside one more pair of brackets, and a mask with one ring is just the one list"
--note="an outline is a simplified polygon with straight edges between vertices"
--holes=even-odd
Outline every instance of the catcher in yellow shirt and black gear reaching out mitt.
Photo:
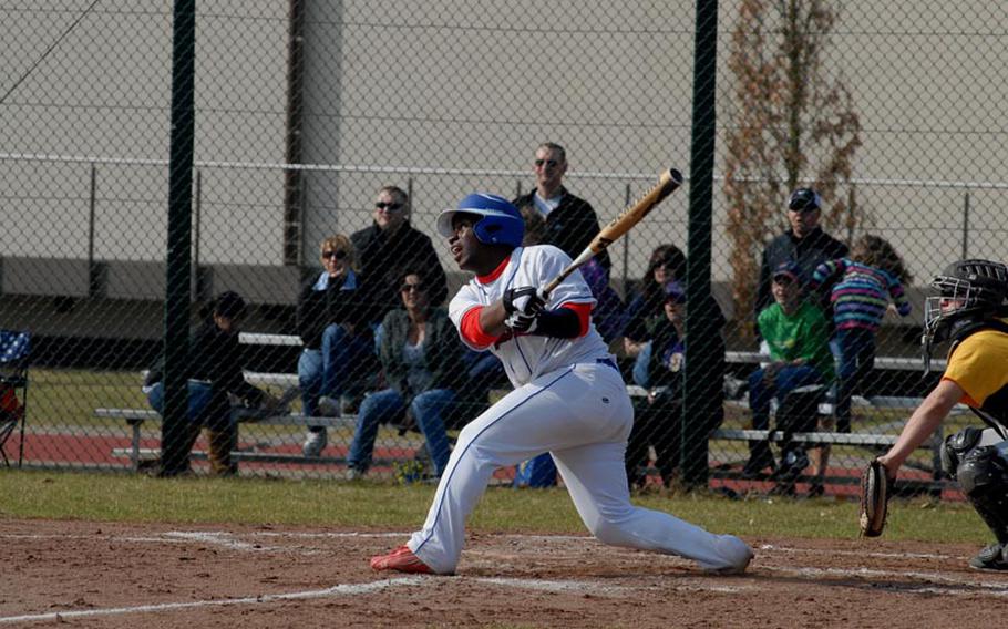
[[906,457],[964,403],[986,429],[967,427],[945,440],[942,467],[955,478],[997,542],[969,560],[973,568],[1008,570],[1008,267],[960,260],[932,280],[937,297],[924,309],[924,365],[933,343],[950,342],[940,382],[914,411],[896,444],[862,478],[862,533],[885,526],[885,502]]

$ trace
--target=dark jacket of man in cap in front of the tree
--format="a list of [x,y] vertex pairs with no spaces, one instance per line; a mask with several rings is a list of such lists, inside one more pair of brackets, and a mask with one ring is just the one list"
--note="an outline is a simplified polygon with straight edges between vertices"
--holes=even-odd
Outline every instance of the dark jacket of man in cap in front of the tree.
[[[802,283],[808,283],[812,279],[812,272],[815,267],[835,258],[843,258],[847,255],[847,246],[833,238],[821,228],[816,227],[804,238],[798,239],[790,229],[781,234],[767,244],[763,249],[763,261],[760,265],[760,283],[757,289],[757,300],[754,303],[753,320],[760,316],[760,312],[773,303],[773,295],[770,291],[770,282],[773,279],[773,270],[781,262],[798,262],[802,272]],[[825,310],[829,312],[830,291],[823,291]]]

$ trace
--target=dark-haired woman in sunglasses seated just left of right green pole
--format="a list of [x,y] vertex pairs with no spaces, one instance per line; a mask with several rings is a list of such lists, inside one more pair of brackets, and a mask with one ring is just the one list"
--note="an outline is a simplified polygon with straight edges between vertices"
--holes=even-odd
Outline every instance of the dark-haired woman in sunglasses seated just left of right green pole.
[[686,255],[675,245],[659,245],[651,251],[648,268],[640,279],[640,286],[629,300],[627,324],[624,328],[623,348],[634,364],[634,382],[648,389],[648,364],[651,360],[650,337],[647,322],[652,317],[665,314],[664,287],[670,281],[686,280]]

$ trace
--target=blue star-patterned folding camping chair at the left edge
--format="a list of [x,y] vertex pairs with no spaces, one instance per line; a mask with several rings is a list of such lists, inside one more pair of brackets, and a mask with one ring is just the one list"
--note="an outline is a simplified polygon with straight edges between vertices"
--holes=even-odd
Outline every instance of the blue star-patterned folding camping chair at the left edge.
[[0,455],[10,467],[7,442],[21,424],[18,467],[24,458],[24,409],[28,403],[28,361],[31,334],[0,330]]

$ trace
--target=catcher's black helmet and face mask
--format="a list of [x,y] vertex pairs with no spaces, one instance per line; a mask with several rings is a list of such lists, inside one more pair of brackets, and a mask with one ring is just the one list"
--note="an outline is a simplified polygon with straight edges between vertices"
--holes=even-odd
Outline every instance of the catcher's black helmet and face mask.
[[1008,267],[990,260],[959,260],[930,281],[938,295],[924,301],[920,339],[924,372],[930,369],[932,346],[973,321],[1001,316],[1008,297]]

